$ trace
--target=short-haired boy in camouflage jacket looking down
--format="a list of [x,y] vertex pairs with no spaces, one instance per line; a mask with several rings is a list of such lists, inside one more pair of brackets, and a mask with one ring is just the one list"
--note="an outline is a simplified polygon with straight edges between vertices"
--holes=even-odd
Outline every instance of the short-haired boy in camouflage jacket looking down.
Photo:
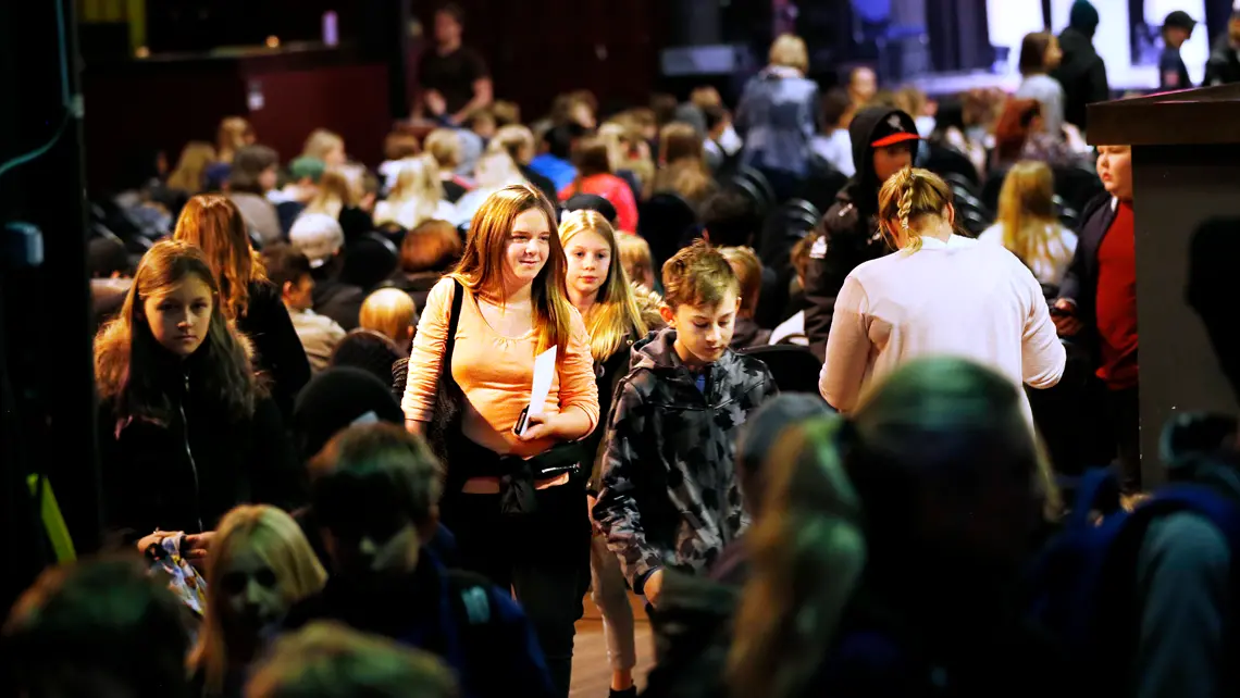
[[616,387],[594,519],[632,589],[658,605],[662,568],[706,570],[745,519],[735,436],[777,389],[728,348],[740,284],[701,241],[663,264],[668,327],[632,347]]

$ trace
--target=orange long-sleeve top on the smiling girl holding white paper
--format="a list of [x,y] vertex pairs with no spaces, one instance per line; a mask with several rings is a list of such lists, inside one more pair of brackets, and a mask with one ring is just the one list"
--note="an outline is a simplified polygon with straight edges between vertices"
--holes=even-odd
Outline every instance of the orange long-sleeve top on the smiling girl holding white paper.
[[[522,441],[512,433],[521,410],[529,404],[534,376],[537,332],[505,337],[482,317],[474,294],[465,290],[453,350],[453,378],[465,394],[461,431],[498,454],[522,457],[538,455],[554,440]],[[418,322],[418,334],[409,353],[409,382],[401,407],[405,419],[430,420],[435,405],[440,360],[448,338],[448,315],[453,306],[453,280],[443,279],[427,296]],[[559,347],[559,369],[552,378],[543,414],[558,414],[577,407],[590,418],[590,429],[599,420],[599,391],[594,382],[594,360],[585,322],[574,310],[572,335],[567,347]]]

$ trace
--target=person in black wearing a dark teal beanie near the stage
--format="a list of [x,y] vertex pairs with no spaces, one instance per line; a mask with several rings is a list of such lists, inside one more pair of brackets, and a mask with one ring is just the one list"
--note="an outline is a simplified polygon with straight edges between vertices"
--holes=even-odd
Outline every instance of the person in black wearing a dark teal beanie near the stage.
[[1064,86],[1064,120],[1085,130],[1085,105],[1106,102],[1111,87],[1106,81],[1106,63],[1094,48],[1097,10],[1086,0],[1076,0],[1068,15],[1068,29],[1059,35],[1064,52],[1059,67],[1050,77]]

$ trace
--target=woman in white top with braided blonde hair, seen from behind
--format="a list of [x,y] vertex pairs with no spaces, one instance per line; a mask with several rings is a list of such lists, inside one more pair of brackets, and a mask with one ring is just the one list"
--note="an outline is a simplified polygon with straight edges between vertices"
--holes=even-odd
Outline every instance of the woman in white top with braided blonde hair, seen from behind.
[[[897,250],[848,275],[836,299],[818,389],[839,412],[904,362],[972,358],[1033,388],[1064,372],[1064,347],[1042,286],[1007,249],[956,236],[951,188],[905,169],[879,192],[883,234]],[[1024,405],[1030,419],[1028,400]]]

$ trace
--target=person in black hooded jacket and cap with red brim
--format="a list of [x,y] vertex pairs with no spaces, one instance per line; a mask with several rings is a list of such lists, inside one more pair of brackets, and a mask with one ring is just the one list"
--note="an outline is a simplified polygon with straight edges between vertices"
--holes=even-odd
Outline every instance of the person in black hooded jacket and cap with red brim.
[[826,356],[836,295],[861,263],[889,248],[878,229],[878,190],[888,177],[913,165],[920,140],[916,123],[899,109],[869,107],[848,125],[857,174],[836,195],[822,217],[823,236],[810,249],[805,274],[805,334],[816,356]]

